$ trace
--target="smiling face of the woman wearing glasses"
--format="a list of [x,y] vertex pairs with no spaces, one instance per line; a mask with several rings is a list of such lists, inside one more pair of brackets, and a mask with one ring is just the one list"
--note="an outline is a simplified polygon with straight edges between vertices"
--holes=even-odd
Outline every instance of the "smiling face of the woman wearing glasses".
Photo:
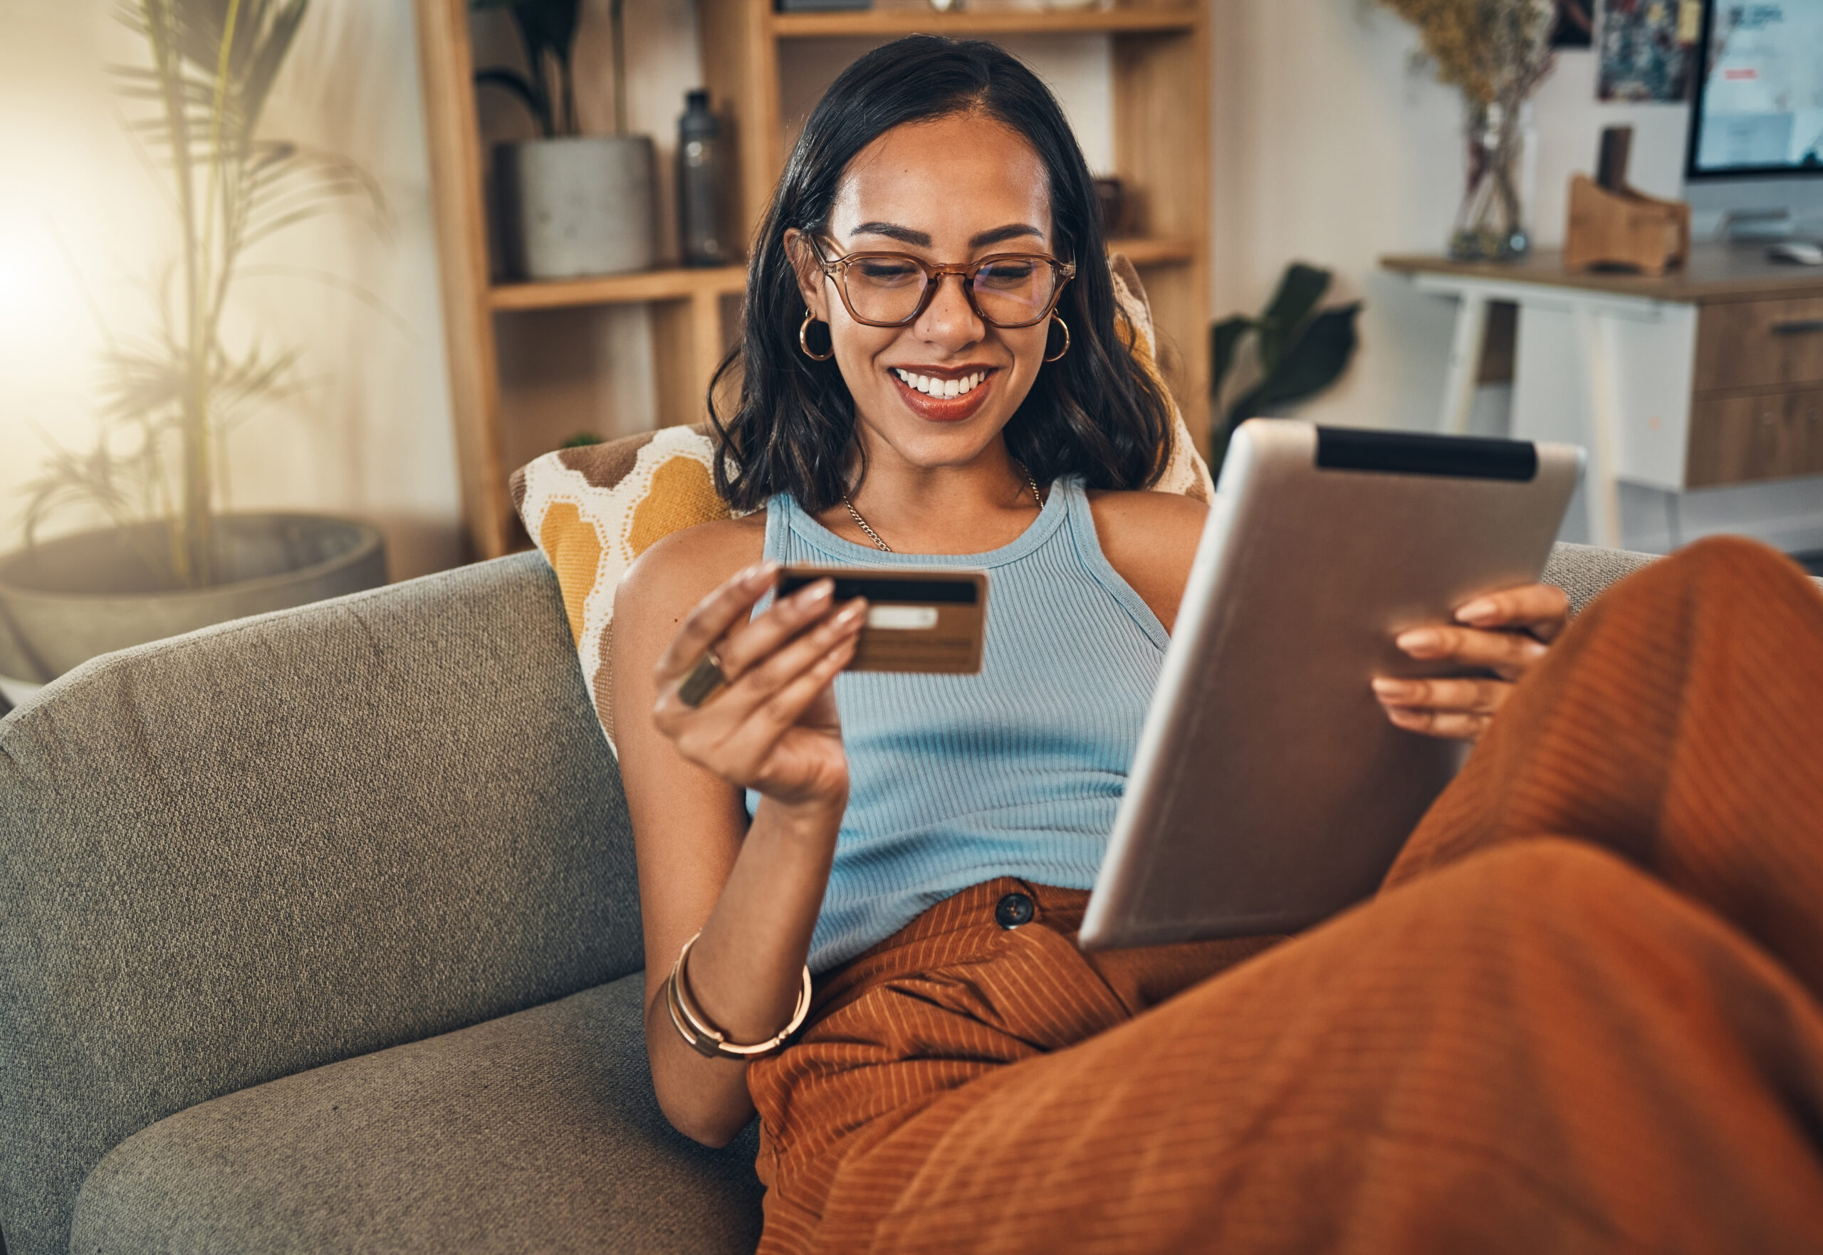
[[[817,246],[829,260],[893,251],[961,264],[990,253],[1056,257],[1050,231],[1045,162],[1025,137],[992,118],[950,117],[893,128],[864,148]],[[999,437],[1045,364],[1050,319],[988,326],[963,277],[942,275],[917,321],[868,326],[850,315],[835,279],[806,264],[806,237],[788,233],[786,248],[798,259],[806,304],[829,324],[870,457],[891,450],[913,466],[955,466]]]

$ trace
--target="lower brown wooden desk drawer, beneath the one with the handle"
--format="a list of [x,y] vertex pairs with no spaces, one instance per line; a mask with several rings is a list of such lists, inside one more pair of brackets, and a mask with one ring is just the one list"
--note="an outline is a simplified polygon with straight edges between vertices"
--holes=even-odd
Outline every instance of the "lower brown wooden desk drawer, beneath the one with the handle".
[[1719,397],[1690,406],[1684,486],[1823,475],[1823,390]]

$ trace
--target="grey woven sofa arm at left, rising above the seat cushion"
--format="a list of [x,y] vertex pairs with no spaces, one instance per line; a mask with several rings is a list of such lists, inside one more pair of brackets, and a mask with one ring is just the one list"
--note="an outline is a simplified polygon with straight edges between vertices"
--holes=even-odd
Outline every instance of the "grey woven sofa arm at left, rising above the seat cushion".
[[0,1228],[208,1098],[642,965],[536,554],[111,654],[0,721]]

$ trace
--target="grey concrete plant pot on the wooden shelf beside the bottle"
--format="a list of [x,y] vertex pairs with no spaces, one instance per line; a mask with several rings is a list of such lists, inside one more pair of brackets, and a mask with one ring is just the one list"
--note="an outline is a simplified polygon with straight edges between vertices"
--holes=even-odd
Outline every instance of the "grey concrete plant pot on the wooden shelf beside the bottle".
[[512,279],[649,270],[658,257],[656,158],[645,135],[494,148],[501,250]]

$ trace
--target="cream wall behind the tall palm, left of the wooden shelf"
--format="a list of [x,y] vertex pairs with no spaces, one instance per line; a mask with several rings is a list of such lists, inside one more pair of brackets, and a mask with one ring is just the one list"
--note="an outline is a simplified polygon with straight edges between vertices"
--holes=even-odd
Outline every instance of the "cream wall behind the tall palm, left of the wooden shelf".
[[[111,9],[0,0],[0,550],[18,537],[18,488],[46,439],[91,437],[100,322],[146,333],[146,282],[171,257],[166,193],[122,138],[104,71],[144,64],[144,49]],[[396,577],[452,565],[456,454],[408,2],[315,0],[266,133],[374,173],[392,228],[383,240],[332,215],[248,257],[224,332],[301,348],[303,388],[232,437],[232,505],[374,519]],[[91,521],[66,514],[47,532]]]

